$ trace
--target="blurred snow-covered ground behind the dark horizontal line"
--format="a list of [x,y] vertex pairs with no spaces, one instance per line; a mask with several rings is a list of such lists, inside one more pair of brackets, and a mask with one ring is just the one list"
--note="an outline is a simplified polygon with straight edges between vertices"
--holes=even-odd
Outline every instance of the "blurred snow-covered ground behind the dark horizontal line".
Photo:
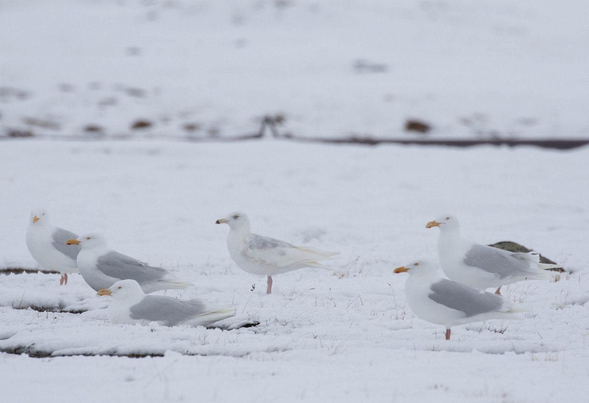
[[[3,0],[0,136],[586,137],[582,0]],[[133,128],[135,127],[135,128]]]

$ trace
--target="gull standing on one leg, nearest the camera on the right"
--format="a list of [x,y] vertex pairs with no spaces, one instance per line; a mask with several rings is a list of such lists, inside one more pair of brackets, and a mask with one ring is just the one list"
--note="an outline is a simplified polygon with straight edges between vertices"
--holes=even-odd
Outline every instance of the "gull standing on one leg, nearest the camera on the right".
[[394,272],[409,273],[405,282],[409,307],[424,321],[446,326],[446,340],[452,326],[493,318],[521,319],[514,313],[530,310],[517,308],[499,295],[444,279],[428,260],[415,260]]

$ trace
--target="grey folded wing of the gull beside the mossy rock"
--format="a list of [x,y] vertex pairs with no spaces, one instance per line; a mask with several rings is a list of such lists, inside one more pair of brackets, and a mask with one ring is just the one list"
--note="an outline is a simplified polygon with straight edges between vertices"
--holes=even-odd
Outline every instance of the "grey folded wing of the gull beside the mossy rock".
[[513,276],[514,272],[530,272],[529,260],[513,259],[512,255],[495,247],[474,244],[466,252],[464,264],[494,273],[501,279]]

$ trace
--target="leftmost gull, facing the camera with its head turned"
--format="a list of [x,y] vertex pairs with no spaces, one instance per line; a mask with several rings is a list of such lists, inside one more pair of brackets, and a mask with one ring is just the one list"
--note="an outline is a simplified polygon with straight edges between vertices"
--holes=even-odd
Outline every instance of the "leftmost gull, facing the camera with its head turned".
[[78,237],[73,232],[51,225],[45,209],[32,209],[27,227],[27,248],[39,265],[61,273],[59,285],[67,285],[68,273],[78,273],[76,257],[80,246],[68,247],[65,240]]

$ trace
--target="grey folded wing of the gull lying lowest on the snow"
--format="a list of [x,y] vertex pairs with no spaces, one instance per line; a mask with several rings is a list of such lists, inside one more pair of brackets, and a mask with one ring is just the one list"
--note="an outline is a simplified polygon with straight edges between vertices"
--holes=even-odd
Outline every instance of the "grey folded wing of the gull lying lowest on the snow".
[[160,295],[147,295],[130,310],[131,319],[165,322],[167,326],[176,326],[207,313],[206,306],[199,299],[178,300]]

